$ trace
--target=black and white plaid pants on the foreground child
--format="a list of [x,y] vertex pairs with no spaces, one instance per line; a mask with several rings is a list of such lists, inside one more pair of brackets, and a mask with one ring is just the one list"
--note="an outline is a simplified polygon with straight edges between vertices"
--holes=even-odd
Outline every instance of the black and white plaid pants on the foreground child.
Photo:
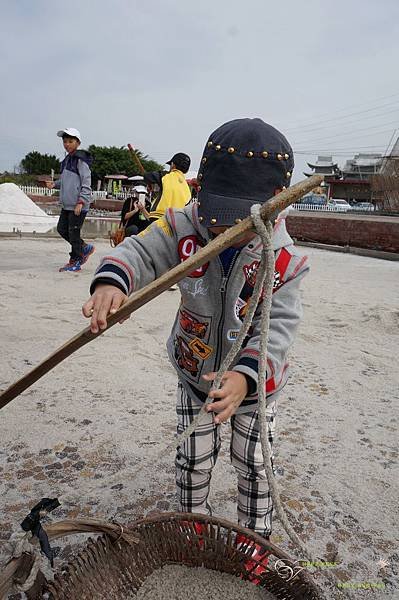
[[[200,411],[182,384],[177,389],[177,433],[182,433]],[[220,450],[220,427],[213,413],[204,415],[201,425],[176,453],[176,486],[180,510],[210,514],[208,495],[212,469]],[[272,449],[276,402],[267,407],[268,439]],[[258,413],[231,418],[230,459],[238,477],[238,522],[260,535],[272,531],[273,502],[263,465]]]

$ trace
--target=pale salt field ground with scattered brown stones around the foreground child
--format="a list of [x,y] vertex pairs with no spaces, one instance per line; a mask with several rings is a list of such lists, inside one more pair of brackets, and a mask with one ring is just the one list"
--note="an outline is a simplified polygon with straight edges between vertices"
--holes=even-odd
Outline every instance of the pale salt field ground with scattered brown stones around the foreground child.
[[[86,326],[80,307],[109,252],[95,244],[81,273],[59,273],[63,240],[0,239],[1,389]],[[342,597],[397,599],[399,263],[302,251],[312,270],[280,400],[276,480],[297,533],[336,563]],[[173,455],[156,457],[175,431],[165,342],[178,303],[165,292],[1,410],[0,541],[43,496],[59,498],[55,519],[129,522],[176,508]],[[223,431],[211,504],[235,521]],[[272,541],[298,556],[277,522]],[[62,557],[72,550],[65,541]],[[323,568],[314,572],[321,582]]]

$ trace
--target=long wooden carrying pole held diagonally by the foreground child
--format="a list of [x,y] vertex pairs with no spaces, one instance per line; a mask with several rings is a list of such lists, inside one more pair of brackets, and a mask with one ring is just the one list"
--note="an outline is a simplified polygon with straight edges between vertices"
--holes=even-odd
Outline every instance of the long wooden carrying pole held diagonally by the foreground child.
[[[287,190],[283,190],[277,196],[274,196],[268,202],[266,202],[261,208],[261,216],[264,220],[269,219],[272,215],[284,210],[290,204],[301,198],[307,192],[320,185],[323,181],[321,175],[312,175],[311,177],[296,183]],[[162,292],[168,290],[172,285],[189,275],[192,271],[195,271],[198,267],[205,264],[215,256],[219,255],[223,250],[231,246],[232,244],[239,241],[243,234],[253,229],[253,222],[251,217],[247,217],[241,223],[230,227],[217,238],[209,242],[204,248],[196,252],[193,256],[188,258],[186,261],[180,263],[170,271],[158,277],[155,281],[148,284],[141,290],[133,293],[130,299],[113,315],[109,315],[107,318],[107,328],[98,333],[92,333],[90,327],[86,327],[75,335],[73,338],[68,340],[63,346],[58,348],[55,352],[50,354],[43,362],[34,367],[31,371],[26,373],[21,379],[13,383],[7,388],[2,394],[0,394],[0,409],[4,408],[11,400],[16,398],[19,394],[28,389],[38,379],[43,377],[56,365],[62,362],[65,358],[76,352],[82,346],[85,346],[98,336],[102,335],[104,331],[107,331],[118,323],[121,319],[126,319],[132,312],[147,304],[150,300],[153,300]]]

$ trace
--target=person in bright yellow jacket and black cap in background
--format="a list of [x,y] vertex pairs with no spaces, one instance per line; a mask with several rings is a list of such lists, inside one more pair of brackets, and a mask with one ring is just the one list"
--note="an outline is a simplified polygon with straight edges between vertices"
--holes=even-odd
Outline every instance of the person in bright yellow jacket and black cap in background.
[[183,208],[190,201],[191,192],[184,176],[190,163],[190,157],[184,152],[178,152],[166,163],[170,171],[161,177],[161,194],[151,207],[151,220],[163,217],[168,208]]

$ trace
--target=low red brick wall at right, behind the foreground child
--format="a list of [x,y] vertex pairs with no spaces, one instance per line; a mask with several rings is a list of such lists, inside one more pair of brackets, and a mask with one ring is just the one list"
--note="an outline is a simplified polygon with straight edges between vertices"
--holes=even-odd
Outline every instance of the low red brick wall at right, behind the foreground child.
[[298,240],[399,252],[399,218],[290,214],[287,229]]

